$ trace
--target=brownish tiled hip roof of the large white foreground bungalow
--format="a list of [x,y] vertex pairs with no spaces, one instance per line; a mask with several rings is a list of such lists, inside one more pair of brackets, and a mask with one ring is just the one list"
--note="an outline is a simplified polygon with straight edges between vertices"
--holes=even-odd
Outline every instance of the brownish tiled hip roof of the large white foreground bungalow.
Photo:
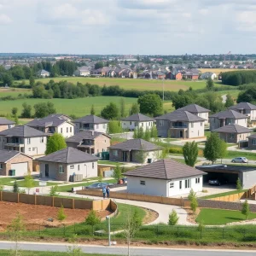
[[151,177],[159,179],[176,179],[200,176],[204,174],[206,173],[171,159],[158,160],[147,166],[124,173],[125,176]]

